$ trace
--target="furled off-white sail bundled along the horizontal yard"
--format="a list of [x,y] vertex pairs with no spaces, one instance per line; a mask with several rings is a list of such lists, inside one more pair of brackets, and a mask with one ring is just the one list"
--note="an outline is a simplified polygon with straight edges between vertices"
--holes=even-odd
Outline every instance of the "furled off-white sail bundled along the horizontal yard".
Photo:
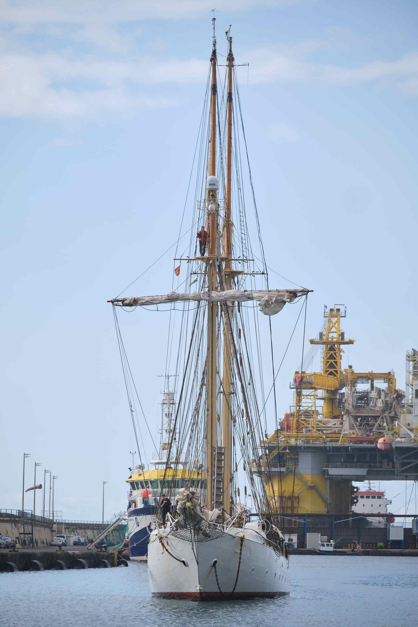
[[245,290],[226,290],[225,292],[169,292],[161,296],[130,296],[115,300],[115,305],[122,307],[136,307],[139,305],[161,305],[163,303],[175,303],[178,301],[194,300],[213,303],[243,303],[248,300],[257,300],[262,314],[278,314],[286,303],[292,303],[299,295],[297,292],[287,290],[269,290],[268,292],[252,292]]

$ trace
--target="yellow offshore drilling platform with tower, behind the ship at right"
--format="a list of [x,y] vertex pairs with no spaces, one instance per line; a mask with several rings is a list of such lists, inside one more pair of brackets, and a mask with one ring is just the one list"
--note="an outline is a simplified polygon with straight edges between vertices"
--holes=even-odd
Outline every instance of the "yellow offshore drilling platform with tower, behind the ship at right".
[[312,364],[321,349],[321,372],[299,367],[294,404],[261,443],[283,515],[351,514],[352,482],[418,479],[418,352],[407,353],[406,391],[393,371],[343,370],[342,347],[354,342],[341,330],[345,317],[345,305],[324,307],[304,359]]

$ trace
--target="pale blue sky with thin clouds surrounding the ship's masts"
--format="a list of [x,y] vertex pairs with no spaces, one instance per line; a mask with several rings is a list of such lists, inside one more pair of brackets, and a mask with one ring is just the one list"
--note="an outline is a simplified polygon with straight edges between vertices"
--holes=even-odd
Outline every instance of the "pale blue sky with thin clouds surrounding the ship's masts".
[[[273,287],[314,290],[306,337],[315,337],[324,304],[345,303],[343,329],[355,344],[343,366],[394,369],[404,388],[405,351],[418,344],[418,6],[216,7],[219,50],[232,24],[235,61],[249,64],[237,72],[265,255],[289,280],[272,273]],[[212,8],[0,1],[2,508],[21,505],[24,452],[28,473],[41,463],[37,482],[45,469],[58,477],[55,505],[66,519],[101,519],[104,480],[105,518],[126,507],[136,444],[106,300],[178,237]],[[166,293],[172,280],[169,253],[131,290]],[[274,319],[276,361],[295,312],[286,306]],[[127,350],[155,425],[166,319],[128,315]],[[301,341],[299,329],[277,378],[279,414],[292,402]],[[404,513],[412,484],[385,488],[400,493],[392,511]]]

